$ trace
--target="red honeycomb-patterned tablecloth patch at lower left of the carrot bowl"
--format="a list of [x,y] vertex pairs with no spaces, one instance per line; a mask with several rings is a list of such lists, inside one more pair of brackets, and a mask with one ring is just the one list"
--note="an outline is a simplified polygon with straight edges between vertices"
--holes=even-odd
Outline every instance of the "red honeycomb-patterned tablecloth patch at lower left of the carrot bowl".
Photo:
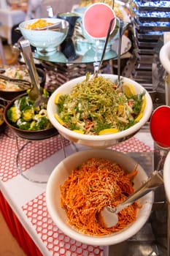
[[103,255],[103,247],[90,246],[75,241],[69,236],[66,236],[58,227],[53,223],[47,213],[47,206],[45,202],[45,193],[34,198],[22,207],[23,212],[34,226],[36,233],[42,239],[47,249],[53,255]]

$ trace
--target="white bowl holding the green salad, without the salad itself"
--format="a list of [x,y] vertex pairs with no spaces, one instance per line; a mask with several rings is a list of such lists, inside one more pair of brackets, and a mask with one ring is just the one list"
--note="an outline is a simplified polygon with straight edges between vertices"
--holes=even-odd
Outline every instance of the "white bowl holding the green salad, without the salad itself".
[[[117,80],[117,75],[103,74],[103,76],[105,78],[110,78],[112,81]],[[47,103],[47,114],[50,118],[51,123],[56,129],[58,129],[58,132],[60,132],[61,135],[63,135],[63,137],[65,137],[66,139],[71,140],[74,143],[80,143],[84,146],[89,146],[92,148],[108,148],[109,146],[113,146],[116,143],[131,138],[131,136],[138,132],[139,129],[150,118],[150,115],[152,113],[152,99],[150,98],[150,94],[148,94],[148,92],[146,91],[146,107],[144,109],[144,115],[142,116],[138,123],[134,124],[134,126],[128,129],[125,129],[122,132],[112,133],[109,135],[83,135],[78,132],[73,132],[72,130],[67,129],[66,127],[63,127],[54,116],[54,113],[57,113],[57,107],[54,103],[55,95],[58,93],[69,94],[69,92],[72,91],[72,88],[77,83],[82,82],[82,80],[85,80],[85,76],[75,78],[67,83],[64,83],[62,86],[58,87],[58,89],[56,89],[53,92]],[[123,78],[123,80],[127,83],[131,83],[134,86],[136,94],[140,94],[144,91],[144,87],[139,85],[139,83],[136,83],[134,80],[131,80],[129,78]]]

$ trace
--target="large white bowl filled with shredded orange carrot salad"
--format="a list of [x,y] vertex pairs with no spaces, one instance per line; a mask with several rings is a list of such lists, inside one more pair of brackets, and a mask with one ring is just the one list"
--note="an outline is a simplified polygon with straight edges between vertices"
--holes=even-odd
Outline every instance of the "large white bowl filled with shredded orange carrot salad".
[[66,157],[47,181],[47,210],[67,236],[85,244],[107,246],[134,236],[147,222],[153,193],[118,213],[115,227],[105,227],[100,216],[106,206],[117,206],[147,180],[134,159],[112,149],[89,149]]

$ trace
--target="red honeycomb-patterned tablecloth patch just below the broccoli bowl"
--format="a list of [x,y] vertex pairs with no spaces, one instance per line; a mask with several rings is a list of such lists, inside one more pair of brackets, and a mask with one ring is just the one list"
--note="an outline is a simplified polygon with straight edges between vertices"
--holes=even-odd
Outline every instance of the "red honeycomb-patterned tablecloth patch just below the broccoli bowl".
[[[69,140],[63,140],[64,146],[69,145]],[[20,148],[28,143],[27,140],[19,140]],[[55,154],[62,148],[60,136],[55,136],[47,140],[30,141],[24,148],[22,154],[22,170],[28,170],[34,165],[42,162],[47,157]],[[18,154],[15,137],[1,135],[0,154],[3,155],[0,162],[0,178],[1,181],[8,181],[10,178],[18,176],[18,168],[16,165],[16,157]]]

